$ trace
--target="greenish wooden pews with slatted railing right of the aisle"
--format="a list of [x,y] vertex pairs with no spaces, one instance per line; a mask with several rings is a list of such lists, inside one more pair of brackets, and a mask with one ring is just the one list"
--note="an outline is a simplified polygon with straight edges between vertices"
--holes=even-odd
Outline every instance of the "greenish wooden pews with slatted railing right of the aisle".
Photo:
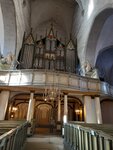
[[113,150],[113,126],[65,124],[64,147],[65,150]]

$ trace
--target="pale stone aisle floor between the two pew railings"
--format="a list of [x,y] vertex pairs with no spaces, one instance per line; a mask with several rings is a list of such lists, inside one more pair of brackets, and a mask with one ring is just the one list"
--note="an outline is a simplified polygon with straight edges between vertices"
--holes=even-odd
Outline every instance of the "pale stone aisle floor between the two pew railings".
[[64,150],[63,138],[57,135],[34,135],[27,138],[23,150]]

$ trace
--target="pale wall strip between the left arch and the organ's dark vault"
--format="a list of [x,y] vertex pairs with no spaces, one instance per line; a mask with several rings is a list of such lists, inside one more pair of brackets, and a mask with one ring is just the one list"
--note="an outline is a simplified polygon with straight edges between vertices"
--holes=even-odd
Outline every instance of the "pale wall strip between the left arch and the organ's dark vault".
[[[13,0],[16,11],[17,43],[16,57],[22,47],[24,32],[30,31],[30,0]],[[24,2],[24,3],[23,3]]]

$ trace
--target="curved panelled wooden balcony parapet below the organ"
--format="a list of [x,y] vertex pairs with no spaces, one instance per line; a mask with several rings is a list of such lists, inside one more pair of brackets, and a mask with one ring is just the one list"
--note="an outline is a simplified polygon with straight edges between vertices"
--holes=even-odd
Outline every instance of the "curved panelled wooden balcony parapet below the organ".
[[44,87],[53,83],[62,89],[113,96],[113,88],[98,79],[47,70],[0,71],[0,86]]

